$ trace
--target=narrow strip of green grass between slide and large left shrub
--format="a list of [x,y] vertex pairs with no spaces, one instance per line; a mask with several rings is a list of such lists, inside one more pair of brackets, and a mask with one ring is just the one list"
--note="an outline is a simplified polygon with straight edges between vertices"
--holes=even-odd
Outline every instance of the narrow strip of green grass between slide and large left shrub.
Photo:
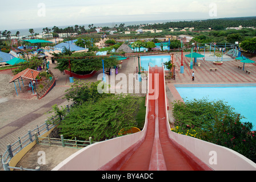
[[140,130],[143,129],[144,124],[145,124],[145,117],[146,117],[146,106],[145,106],[145,100],[146,97],[138,97],[139,99],[139,110],[136,116],[136,121],[138,123],[138,128]]

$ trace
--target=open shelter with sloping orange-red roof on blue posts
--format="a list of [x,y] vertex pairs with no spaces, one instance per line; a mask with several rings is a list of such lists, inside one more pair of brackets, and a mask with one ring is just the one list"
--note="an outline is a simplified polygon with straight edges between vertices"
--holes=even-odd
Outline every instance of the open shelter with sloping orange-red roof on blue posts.
[[[34,80],[35,80],[34,78],[37,77],[38,74],[39,74],[39,71],[27,68],[27,69],[23,70],[22,72],[19,72],[17,75],[15,75],[11,79],[11,81],[9,81],[9,83],[14,82],[14,86],[15,86],[15,90],[16,90],[17,96],[18,96],[18,92],[17,92],[17,88],[16,88],[16,85],[15,85],[15,82],[18,81],[18,83],[19,83],[19,79],[21,79],[22,85],[24,86],[23,80],[30,80],[32,92],[34,94],[34,89],[33,89],[33,86],[32,86],[33,85],[32,81],[34,82]],[[21,84],[19,84],[19,89],[21,90]],[[35,89],[35,92],[37,92],[36,89]]]

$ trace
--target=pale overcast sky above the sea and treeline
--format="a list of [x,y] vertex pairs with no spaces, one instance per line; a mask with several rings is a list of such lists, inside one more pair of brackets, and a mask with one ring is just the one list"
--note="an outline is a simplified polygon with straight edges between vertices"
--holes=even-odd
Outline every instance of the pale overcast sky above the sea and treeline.
[[12,0],[1,1],[0,30],[256,16],[255,7],[255,0]]

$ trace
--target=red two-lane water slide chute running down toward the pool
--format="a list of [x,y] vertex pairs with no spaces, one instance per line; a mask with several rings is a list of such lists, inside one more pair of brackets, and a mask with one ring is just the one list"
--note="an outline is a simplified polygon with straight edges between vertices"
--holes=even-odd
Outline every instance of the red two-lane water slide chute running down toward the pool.
[[163,67],[149,68],[146,136],[130,146],[101,170],[174,171],[211,170],[205,163],[174,142],[166,127],[166,93]]

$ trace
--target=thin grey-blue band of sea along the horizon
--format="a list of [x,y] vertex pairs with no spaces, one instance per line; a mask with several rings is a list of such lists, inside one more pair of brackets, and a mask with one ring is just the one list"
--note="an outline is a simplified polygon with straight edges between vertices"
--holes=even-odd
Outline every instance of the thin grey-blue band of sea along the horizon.
[[[198,19],[175,19],[175,20],[143,20],[143,21],[134,21],[134,22],[111,22],[111,23],[93,23],[94,27],[114,27],[115,24],[119,26],[121,23],[125,23],[125,26],[131,26],[131,25],[139,25],[139,24],[147,24],[147,23],[166,23],[166,22],[179,22],[179,21],[191,21],[191,20],[198,20]],[[75,24],[73,25],[66,25],[66,26],[58,26],[57,24],[55,25],[59,28],[66,28],[66,27],[74,27]],[[89,24],[78,24],[78,26],[85,26],[85,29],[89,29]],[[43,28],[46,27],[28,27],[28,28],[21,28],[21,29],[14,29],[14,30],[7,30],[10,31],[11,34],[16,34],[17,31],[19,31],[20,36],[27,36],[31,35],[29,32],[29,29],[33,28],[34,32],[37,34],[41,34],[43,32]],[[53,27],[48,27],[48,28],[53,28]],[[0,31],[5,31],[5,30],[0,30]]]

